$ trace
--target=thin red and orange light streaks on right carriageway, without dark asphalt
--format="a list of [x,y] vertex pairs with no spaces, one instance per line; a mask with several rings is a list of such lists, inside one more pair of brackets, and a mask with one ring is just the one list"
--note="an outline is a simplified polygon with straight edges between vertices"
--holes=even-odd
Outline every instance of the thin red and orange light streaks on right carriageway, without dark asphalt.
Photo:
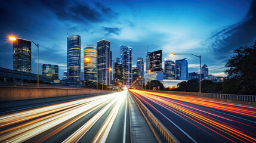
[[[199,109],[200,107],[196,107],[196,108],[192,107],[192,106],[186,104],[186,102],[193,103],[196,105],[201,105],[204,107],[215,108],[217,110],[229,111],[231,113],[236,113],[236,114],[242,114],[243,116],[249,116],[252,118],[256,117],[255,116],[256,108],[254,108],[254,107],[245,107],[242,105],[232,105],[232,104],[226,104],[226,103],[222,103],[222,102],[218,103],[215,101],[207,101],[207,100],[201,100],[201,99],[190,98],[190,97],[182,97],[182,96],[177,96],[177,95],[170,96],[168,94],[161,94],[161,93],[156,93],[156,92],[137,91],[137,90],[136,91],[131,90],[131,92],[133,92],[138,98],[140,98],[140,100],[142,100],[147,105],[149,105],[153,110],[157,110],[156,109],[157,107],[154,104],[158,104],[161,107],[164,107],[166,110],[171,111],[171,113],[174,113],[177,116],[181,117],[182,119],[186,120],[187,122],[192,123],[192,122],[190,122],[190,120],[191,120],[193,122],[199,123],[199,125],[202,125],[205,128],[212,130],[215,133],[218,133],[218,135],[221,135],[224,138],[229,139],[230,141],[232,141],[232,139],[227,138],[226,136],[222,135],[221,132],[226,133],[227,135],[230,135],[233,138],[236,138],[242,142],[255,142],[256,141],[255,133],[248,132],[245,129],[241,129],[241,128],[239,128],[237,126],[233,126],[229,123],[229,122],[236,122],[236,123],[240,124],[241,122],[238,122],[235,119],[229,119],[229,117],[220,116],[220,114],[217,115],[214,113],[210,113],[209,111],[203,111],[203,110]],[[154,104],[152,104],[151,102],[148,102],[145,99],[154,102]],[[176,100],[183,101],[183,102],[177,102]],[[158,112],[159,112],[159,110],[158,110]],[[165,111],[162,111],[162,110],[160,110],[160,111],[162,112],[161,114],[166,114],[166,116],[171,118],[171,116],[169,116],[167,113],[165,113]],[[220,119],[225,119],[226,122],[216,119],[214,116],[218,117]],[[235,117],[235,116],[232,116],[232,117]],[[241,119],[241,118],[239,118],[239,119]],[[251,121],[251,123],[255,123],[255,122]],[[246,122],[241,123],[241,124],[255,129],[255,126],[248,125],[248,124],[246,124]],[[192,125],[196,126],[193,123],[192,123]],[[198,126],[196,126],[196,127],[199,128]],[[202,128],[199,128],[199,129],[202,129]],[[203,130],[203,131],[205,131],[205,130]],[[211,133],[208,133],[208,134],[211,134]],[[232,141],[232,142],[234,142],[234,141]]]

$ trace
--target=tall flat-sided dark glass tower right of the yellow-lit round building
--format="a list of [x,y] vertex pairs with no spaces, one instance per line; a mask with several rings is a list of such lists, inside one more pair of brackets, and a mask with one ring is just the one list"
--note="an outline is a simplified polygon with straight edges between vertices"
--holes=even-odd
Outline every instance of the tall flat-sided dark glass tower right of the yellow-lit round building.
[[110,42],[101,40],[97,42],[98,51],[98,83],[110,85]]

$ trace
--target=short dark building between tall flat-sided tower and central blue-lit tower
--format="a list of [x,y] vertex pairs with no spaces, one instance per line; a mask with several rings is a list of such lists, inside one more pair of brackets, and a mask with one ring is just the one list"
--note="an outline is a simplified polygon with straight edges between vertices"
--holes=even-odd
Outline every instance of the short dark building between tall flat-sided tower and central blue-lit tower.
[[115,86],[122,86],[123,85],[123,70],[121,63],[115,63],[113,66],[113,80]]

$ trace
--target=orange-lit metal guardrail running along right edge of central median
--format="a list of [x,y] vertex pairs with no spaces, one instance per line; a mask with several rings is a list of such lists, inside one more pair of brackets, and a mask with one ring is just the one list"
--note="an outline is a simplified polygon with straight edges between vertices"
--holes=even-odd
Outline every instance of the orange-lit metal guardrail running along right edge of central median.
[[[135,95],[133,95],[131,92],[129,93],[132,95],[131,97],[138,105],[138,108],[140,109],[150,128],[152,128],[152,126],[148,122],[148,119],[155,126],[156,130],[158,130],[158,132],[162,135],[162,138],[164,138],[166,142],[180,143],[180,141],[178,141],[178,139],[156,118],[156,116]],[[159,136],[156,135],[156,133],[154,133],[154,135],[156,136],[158,142],[161,142]]]

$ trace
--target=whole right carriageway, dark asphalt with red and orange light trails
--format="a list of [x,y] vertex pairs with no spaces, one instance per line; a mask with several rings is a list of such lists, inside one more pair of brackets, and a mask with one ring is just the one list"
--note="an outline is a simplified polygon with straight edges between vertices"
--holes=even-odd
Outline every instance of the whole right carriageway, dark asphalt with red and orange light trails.
[[180,142],[256,142],[256,108],[130,90]]

